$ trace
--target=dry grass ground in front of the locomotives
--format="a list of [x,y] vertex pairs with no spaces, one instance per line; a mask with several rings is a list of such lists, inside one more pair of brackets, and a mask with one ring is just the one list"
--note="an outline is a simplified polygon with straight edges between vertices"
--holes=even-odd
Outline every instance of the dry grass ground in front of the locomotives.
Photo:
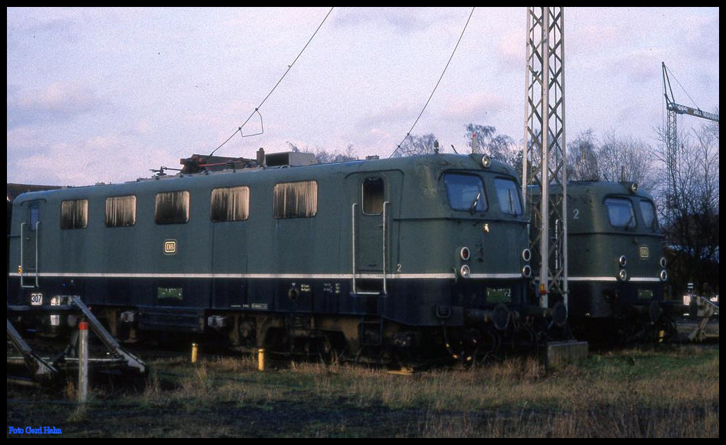
[[[591,354],[555,371],[518,357],[409,376],[306,362],[259,372],[252,357],[150,364],[138,392],[95,388],[89,409],[46,409],[47,422],[64,435],[123,437],[719,436],[717,347]],[[37,411],[9,395],[8,424],[30,419]]]

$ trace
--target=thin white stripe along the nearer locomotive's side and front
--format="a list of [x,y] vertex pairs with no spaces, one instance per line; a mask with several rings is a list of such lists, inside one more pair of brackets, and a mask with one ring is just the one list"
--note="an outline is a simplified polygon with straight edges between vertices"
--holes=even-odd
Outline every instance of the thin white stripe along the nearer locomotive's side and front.
[[[20,277],[17,272],[9,274]],[[25,277],[35,274],[25,274]],[[38,277],[57,278],[239,278],[239,279],[353,279],[353,274],[114,274],[41,272]],[[383,274],[356,274],[356,279],[383,279]],[[521,274],[471,274],[468,279],[518,279]],[[454,279],[453,273],[386,274],[386,279]]]

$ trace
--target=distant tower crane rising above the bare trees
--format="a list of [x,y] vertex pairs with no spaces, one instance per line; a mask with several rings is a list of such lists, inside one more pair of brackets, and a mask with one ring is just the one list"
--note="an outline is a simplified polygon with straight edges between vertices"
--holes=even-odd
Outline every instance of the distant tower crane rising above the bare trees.
[[676,193],[676,168],[677,168],[677,152],[678,152],[678,134],[677,134],[677,115],[692,115],[696,118],[708,119],[709,121],[718,122],[719,115],[707,113],[699,108],[691,108],[680,105],[675,102],[671,81],[668,77],[666,63],[661,62],[663,68],[663,94],[666,97],[666,110],[668,110],[668,118],[666,121],[666,177],[668,178],[668,201],[666,205],[666,217],[668,223],[673,222],[673,209],[677,208]]

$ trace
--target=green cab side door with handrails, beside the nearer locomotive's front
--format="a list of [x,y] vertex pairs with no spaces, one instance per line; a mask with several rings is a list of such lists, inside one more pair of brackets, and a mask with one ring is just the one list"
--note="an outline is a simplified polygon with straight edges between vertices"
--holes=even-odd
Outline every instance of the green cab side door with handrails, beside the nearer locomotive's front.
[[400,182],[401,173],[396,171],[354,177],[356,200],[351,206],[351,254],[355,293],[387,292],[386,273],[391,270],[391,188]]

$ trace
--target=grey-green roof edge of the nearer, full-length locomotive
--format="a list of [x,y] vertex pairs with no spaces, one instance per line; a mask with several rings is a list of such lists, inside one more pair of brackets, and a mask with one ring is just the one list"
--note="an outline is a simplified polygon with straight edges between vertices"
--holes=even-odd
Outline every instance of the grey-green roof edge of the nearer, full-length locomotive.
[[250,184],[265,181],[301,181],[320,179],[331,175],[348,176],[354,173],[375,171],[399,170],[404,172],[449,171],[449,170],[481,170],[506,174],[517,177],[514,168],[497,160],[489,160],[489,166],[483,166],[484,155],[454,155],[436,153],[432,155],[415,155],[402,158],[350,160],[338,163],[319,163],[306,166],[249,166],[237,168],[231,165],[217,171],[202,171],[200,173],[177,173],[174,175],[157,175],[151,178],[140,178],[117,184],[95,184],[79,187],[64,187],[58,190],[47,190],[23,193],[17,197],[18,203],[26,200],[36,200],[52,194],[52,196],[74,199],[75,197],[89,195],[107,195],[108,193],[133,193],[139,189],[155,189],[171,191],[179,187],[197,187],[202,184],[214,187],[229,186],[240,181],[240,175]]

